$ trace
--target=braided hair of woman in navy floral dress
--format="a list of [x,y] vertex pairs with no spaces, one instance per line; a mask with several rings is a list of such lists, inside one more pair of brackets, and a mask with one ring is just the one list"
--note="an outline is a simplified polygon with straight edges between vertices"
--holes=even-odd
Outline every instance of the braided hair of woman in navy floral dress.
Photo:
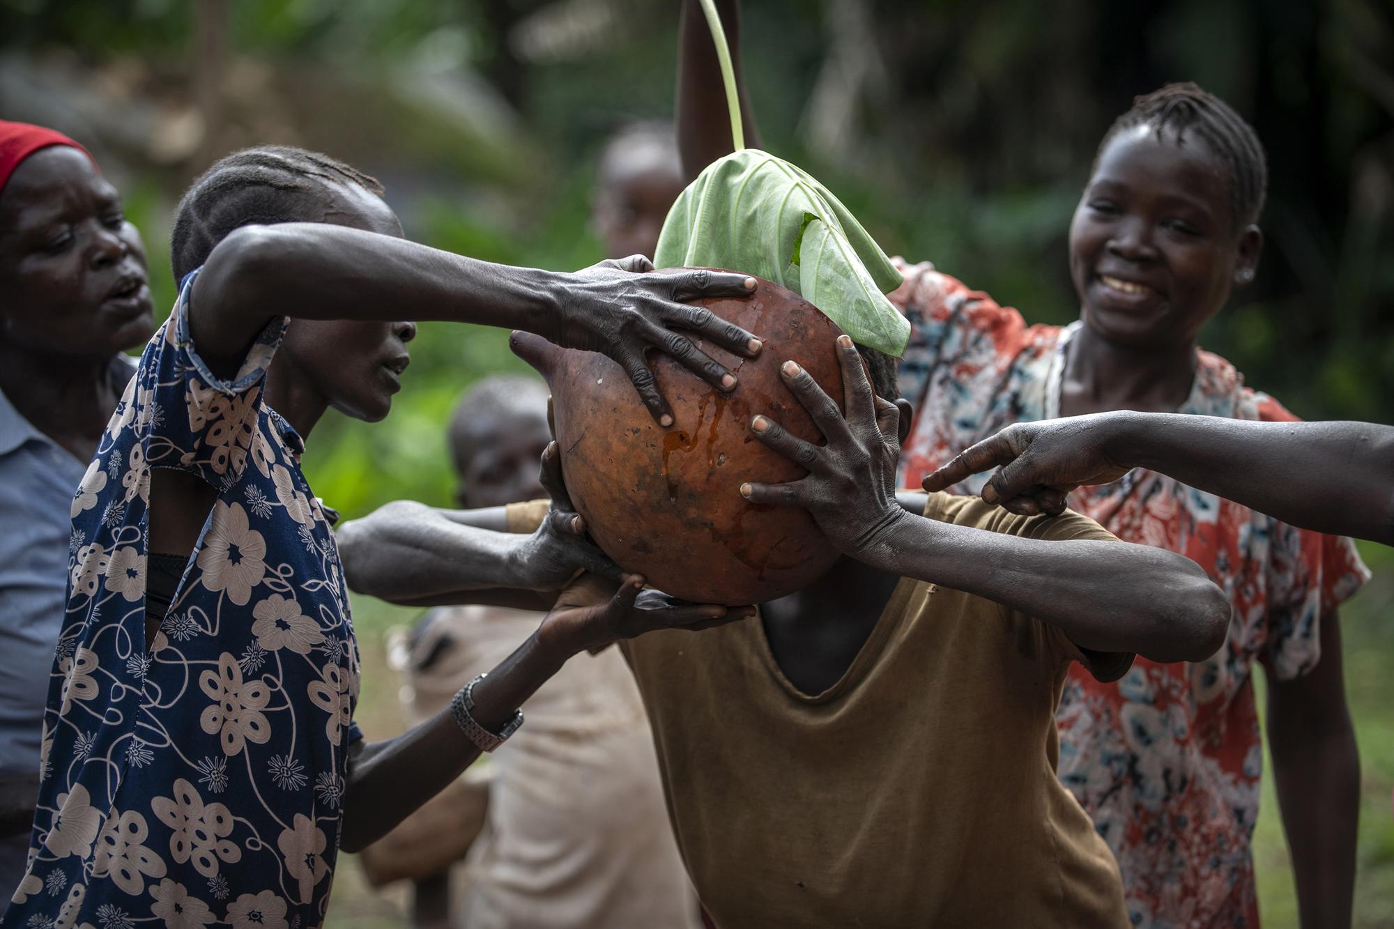
[[213,247],[240,226],[318,220],[333,184],[383,192],[382,184],[357,167],[289,145],[244,148],[219,160],[180,199],[170,237],[174,280],[208,261]]

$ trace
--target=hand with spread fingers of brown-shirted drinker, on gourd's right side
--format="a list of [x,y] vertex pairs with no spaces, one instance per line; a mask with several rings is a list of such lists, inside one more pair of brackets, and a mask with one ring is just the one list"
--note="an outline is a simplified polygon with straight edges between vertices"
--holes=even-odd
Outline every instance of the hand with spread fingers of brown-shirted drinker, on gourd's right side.
[[740,494],[756,504],[803,506],[839,551],[856,558],[905,515],[895,499],[901,411],[871,389],[861,356],[845,335],[838,336],[838,361],[846,416],[802,367],[785,361],[779,368],[825,445],[804,442],[765,416],[750,420],[761,442],[809,476],[788,484],[746,483]]

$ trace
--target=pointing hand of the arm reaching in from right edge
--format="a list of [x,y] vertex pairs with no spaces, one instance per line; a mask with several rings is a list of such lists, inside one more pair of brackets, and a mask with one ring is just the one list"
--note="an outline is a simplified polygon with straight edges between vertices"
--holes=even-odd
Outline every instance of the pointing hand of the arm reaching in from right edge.
[[1062,420],[1016,423],[965,449],[924,478],[938,491],[997,467],[983,501],[1020,516],[1058,515],[1065,495],[1083,484],[1108,484],[1128,473],[1114,446],[1126,413],[1092,413]]

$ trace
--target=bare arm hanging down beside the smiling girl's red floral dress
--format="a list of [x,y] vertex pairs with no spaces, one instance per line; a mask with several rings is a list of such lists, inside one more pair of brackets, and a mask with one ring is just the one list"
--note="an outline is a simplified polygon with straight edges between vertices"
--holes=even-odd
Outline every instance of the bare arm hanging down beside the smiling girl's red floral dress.
[[1322,660],[1312,672],[1292,681],[1271,674],[1267,679],[1273,780],[1292,854],[1302,929],[1348,929],[1361,756],[1345,704],[1335,611],[1322,617]]

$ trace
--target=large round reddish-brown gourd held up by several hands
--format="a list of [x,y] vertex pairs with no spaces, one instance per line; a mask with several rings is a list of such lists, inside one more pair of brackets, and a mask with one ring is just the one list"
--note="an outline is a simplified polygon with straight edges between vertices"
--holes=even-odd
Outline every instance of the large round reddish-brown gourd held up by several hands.
[[750,418],[764,413],[821,445],[779,365],[793,358],[841,402],[834,340],[842,329],[768,280],[758,280],[747,299],[701,304],[760,336],[764,350],[747,360],[697,343],[736,374],[730,393],[655,356],[652,370],[673,410],[666,430],[606,356],[559,349],[521,332],[512,345],[552,388],[566,487],[605,554],[675,597],[764,603],[807,586],[838,552],[807,511],[757,506],[740,497],[742,481],[792,481],[806,473],[757,441]]

